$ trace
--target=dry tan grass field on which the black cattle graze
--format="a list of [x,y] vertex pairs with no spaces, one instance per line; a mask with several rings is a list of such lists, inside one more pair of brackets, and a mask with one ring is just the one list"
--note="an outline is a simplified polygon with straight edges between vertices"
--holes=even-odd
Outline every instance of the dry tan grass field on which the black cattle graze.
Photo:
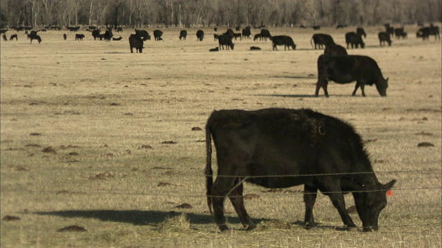
[[[417,27],[406,26],[408,39],[381,48],[382,29],[366,28],[365,49],[348,52],[378,62],[390,78],[387,97],[374,86],[351,96],[354,83],[330,83],[328,99],[322,90],[313,96],[323,50],[311,48],[311,29],[269,28],[291,36],[294,51],[238,40],[234,50],[209,52],[218,46],[212,29],[197,42],[196,30],[180,41],[180,29],[163,28],[164,41],[146,41],[142,54],[130,53],[133,30],[109,43],[86,31],[78,32],[84,41],[68,31],[41,32],[40,44],[23,33],[1,41],[0,246],[441,247],[441,41],[416,39]],[[320,32],[345,45],[354,30]],[[356,127],[381,183],[397,180],[379,231],[342,231],[323,195],[314,210],[320,227],[303,229],[302,187],[246,184],[258,229],[242,229],[227,203],[233,231],[218,232],[204,196],[206,119],[266,107],[308,107]],[[72,225],[84,229],[60,230]]]

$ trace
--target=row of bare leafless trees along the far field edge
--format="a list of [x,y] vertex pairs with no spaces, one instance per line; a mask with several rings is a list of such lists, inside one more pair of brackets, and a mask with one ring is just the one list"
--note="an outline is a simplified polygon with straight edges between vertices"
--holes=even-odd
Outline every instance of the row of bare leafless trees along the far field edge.
[[1,27],[298,26],[441,22],[441,0],[0,0]]

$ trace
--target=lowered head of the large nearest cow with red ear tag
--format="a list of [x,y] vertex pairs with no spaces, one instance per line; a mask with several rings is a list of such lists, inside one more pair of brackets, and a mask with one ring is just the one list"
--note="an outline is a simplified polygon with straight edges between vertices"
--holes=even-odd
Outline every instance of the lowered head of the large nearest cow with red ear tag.
[[375,185],[361,185],[359,192],[353,193],[363,231],[378,230],[379,214],[387,205],[387,190],[391,189],[394,183],[396,180],[385,185],[377,182]]

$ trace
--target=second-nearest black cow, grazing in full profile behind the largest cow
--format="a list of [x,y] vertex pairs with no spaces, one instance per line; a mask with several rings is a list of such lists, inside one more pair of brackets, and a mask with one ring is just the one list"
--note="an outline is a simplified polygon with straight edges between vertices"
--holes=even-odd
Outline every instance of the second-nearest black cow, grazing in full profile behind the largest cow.
[[362,55],[320,55],[318,57],[318,82],[316,83],[315,96],[318,96],[320,87],[323,87],[325,96],[329,96],[327,85],[329,81],[336,83],[352,83],[356,86],[352,96],[361,87],[365,96],[365,85],[376,85],[381,96],[387,96],[388,78],[384,79],[381,69],[374,59]]

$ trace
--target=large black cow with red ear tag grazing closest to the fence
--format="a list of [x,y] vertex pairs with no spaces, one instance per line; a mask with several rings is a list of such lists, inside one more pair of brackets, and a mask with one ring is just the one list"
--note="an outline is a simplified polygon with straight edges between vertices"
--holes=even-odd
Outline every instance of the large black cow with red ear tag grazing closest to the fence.
[[[212,145],[218,173],[213,183]],[[357,229],[345,209],[351,192],[363,231],[378,230],[387,205],[387,190],[396,180],[379,183],[354,127],[312,110],[264,109],[214,111],[206,124],[206,195],[220,231],[226,197],[247,229],[255,229],[244,207],[243,183],[267,188],[304,185],[305,225],[315,227],[313,208],[318,190],[329,196],[346,229]]]

